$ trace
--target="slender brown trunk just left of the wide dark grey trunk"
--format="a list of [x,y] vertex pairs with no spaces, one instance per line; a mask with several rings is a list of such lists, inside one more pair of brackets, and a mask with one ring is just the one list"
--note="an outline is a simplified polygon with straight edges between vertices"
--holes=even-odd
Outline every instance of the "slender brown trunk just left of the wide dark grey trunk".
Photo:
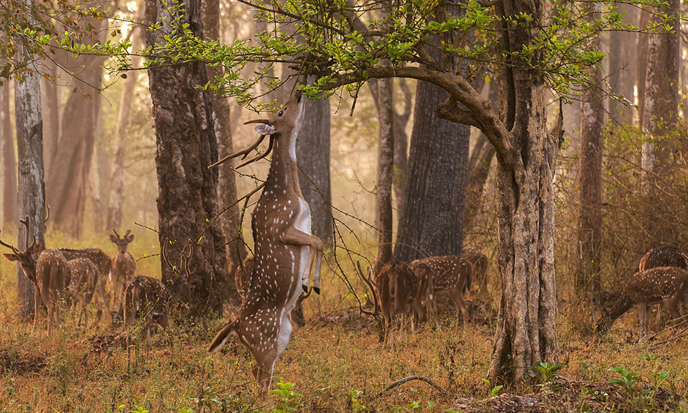
[[374,271],[378,273],[391,260],[391,182],[394,170],[394,79],[378,81],[378,184],[375,196],[377,207],[375,226],[378,230],[378,255]]

